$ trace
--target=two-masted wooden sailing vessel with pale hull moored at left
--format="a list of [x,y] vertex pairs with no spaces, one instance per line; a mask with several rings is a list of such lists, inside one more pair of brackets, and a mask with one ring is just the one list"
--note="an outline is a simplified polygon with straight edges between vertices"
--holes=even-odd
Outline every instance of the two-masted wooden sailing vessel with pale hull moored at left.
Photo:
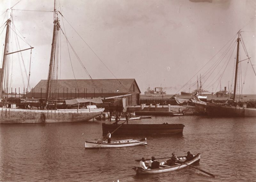
[[[61,29],[58,19],[58,11],[55,8],[54,1],[54,21],[53,21],[53,36],[52,36],[52,49],[51,49],[51,58],[49,64],[49,72],[47,79],[47,89],[46,89],[46,99],[45,106],[49,104],[51,99],[54,99],[54,87],[56,85],[56,76],[54,75],[55,70],[55,58],[58,53],[58,48],[56,47],[58,32]],[[9,43],[10,43],[10,24],[11,19],[6,21],[6,34],[5,34],[5,44],[4,44],[4,56],[3,56],[3,64],[0,69],[0,123],[60,123],[60,122],[82,122],[88,121],[93,117],[100,115],[104,108],[88,108],[88,109],[51,109],[51,110],[31,110],[31,109],[18,109],[15,108],[15,103],[9,103],[9,106],[12,105],[12,108],[8,108],[7,99],[5,98],[4,91],[6,83],[4,84],[4,80],[8,78],[8,70],[6,70],[6,65],[8,65],[9,56],[13,53],[20,52],[9,52]],[[30,47],[28,49],[33,49]],[[21,51],[25,51],[28,49],[24,49]],[[7,86],[8,87],[8,86]],[[55,87],[56,88],[56,87]],[[8,92],[7,92],[8,93]],[[55,95],[56,97],[56,95]],[[101,101],[102,103],[102,101]]]

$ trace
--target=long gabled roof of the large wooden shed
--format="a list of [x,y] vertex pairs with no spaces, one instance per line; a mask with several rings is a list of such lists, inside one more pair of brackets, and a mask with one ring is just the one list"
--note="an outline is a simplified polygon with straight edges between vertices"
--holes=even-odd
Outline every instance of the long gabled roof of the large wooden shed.
[[[72,92],[84,92],[84,89],[88,93],[93,93],[94,88],[95,88],[95,93],[101,93],[101,88],[103,93],[128,93],[129,89],[132,87],[133,82],[136,84],[138,87],[138,84],[136,83],[135,79],[96,79],[96,80],[58,80],[57,81],[57,88],[59,89],[59,92],[68,91],[70,92],[70,88],[72,88]],[[41,92],[42,88],[42,93],[46,92],[46,84],[47,80],[41,80],[35,88],[33,89],[33,92]],[[139,87],[138,87],[139,89]],[[140,89],[139,89],[140,91]],[[141,93],[141,92],[140,92]]]

